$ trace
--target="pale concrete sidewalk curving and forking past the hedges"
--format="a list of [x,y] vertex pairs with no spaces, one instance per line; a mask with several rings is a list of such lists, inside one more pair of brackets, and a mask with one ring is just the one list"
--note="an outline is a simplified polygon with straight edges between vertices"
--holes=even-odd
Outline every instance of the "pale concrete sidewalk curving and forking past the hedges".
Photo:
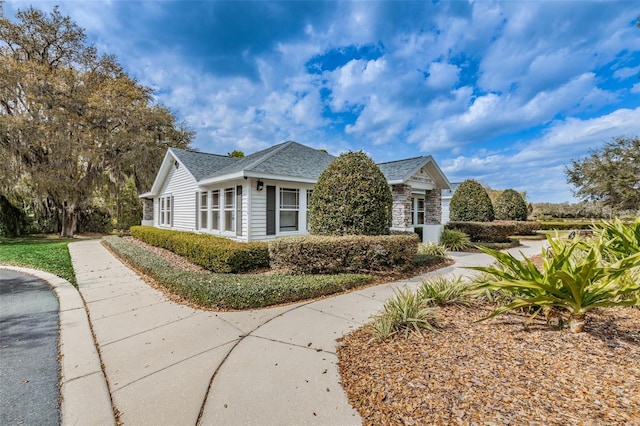
[[[543,242],[515,249],[530,256]],[[369,321],[395,288],[245,312],[179,305],[100,241],[69,245],[113,405],[125,425],[360,424],[340,386],[336,339]],[[469,275],[484,254],[452,254],[435,274]]]

